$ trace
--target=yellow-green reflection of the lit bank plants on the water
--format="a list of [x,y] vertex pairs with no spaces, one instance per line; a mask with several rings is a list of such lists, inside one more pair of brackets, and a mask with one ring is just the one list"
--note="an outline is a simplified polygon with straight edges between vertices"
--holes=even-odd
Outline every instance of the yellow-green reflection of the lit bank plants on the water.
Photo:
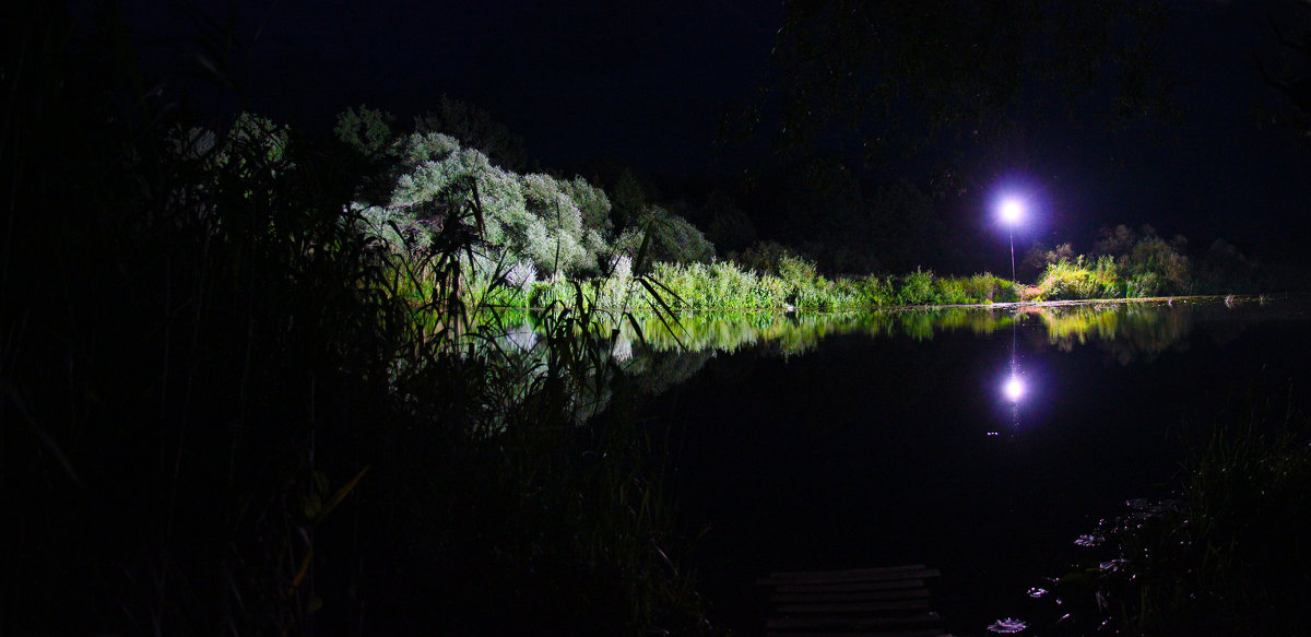
[[[694,376],[718,353],[794,357],[814,351],[819,341],[846,334],[873,338],[931,341],[936,334],[969,332],[994,334],[1013,325],[1041,325],[1021,330],[1034,349],[1072,351],[1096,345],[1120,364],[1151,362],[1169,349],[1188,347],[1193,324],[1201,315],[1227,312],[1219,303],[1110,303],[1030,305],[1023,308],[941,308],[851,315],[684,313],[676,322],[654,316],[611,320],[597,334],[616,366],[606,377],[572,379],[578,422],[604,412],[614,383],[623,376],[631,389],[658,395]],[[514,324],[520,320],[520,324]],[[1232,321],[1221,325],[1231,325]],[[635,325],[636,324],[636,325]],[[526,383],[547,371],[545,342],[532,334],[536,320],[524,312],[511,318],[497,342],[520,358]],[[1240,329],[1240,328],[1239,328]],[[638,333],[640,330],[640,333]],[[527,392],[522,392],[527,395]]]

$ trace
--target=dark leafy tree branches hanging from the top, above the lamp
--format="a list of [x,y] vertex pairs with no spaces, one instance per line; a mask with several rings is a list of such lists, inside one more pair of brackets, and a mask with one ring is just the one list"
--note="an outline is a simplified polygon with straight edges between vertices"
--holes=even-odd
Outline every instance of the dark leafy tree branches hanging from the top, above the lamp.
[[[1071,115],[1168,115],[1167,17],[1164,3],[1134,0],[789,1],[772,76],[732,123],[784,149],[842,144],[880,163],[939,135],[990,142],[1009,118],[1038,117],[1034,87]],[[1109,101],[1084,104],[1106,89]]]

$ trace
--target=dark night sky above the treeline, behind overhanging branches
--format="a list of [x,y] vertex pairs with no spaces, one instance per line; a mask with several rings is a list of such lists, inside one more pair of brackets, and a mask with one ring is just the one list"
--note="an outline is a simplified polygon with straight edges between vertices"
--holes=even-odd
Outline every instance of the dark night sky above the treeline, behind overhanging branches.
[[[225,20],[228,3],[199,5]],[[172,3],[127,7],[143,41],[195,31]],[[1287,3],[1175,3],[1162,52],[1181,85],[1177,125],[1131,122],[1112,132],[1058,114],[1027,126],[1003,156],[1012,165],[994,156],[987,166],[1042,193],[1040,219],[1017,239],[1068,233],[1087,248],[1092,231],[1114,223],[1240,246],[1311,233],[1311,145],[1289,127],[1259,126],[1261,113],[1293,109],[1262,83],[1253,52],[1276,72],[1298,62],[1281,51],[1270,7],[1280,20],[1294,16]],[[746,0],[244,0],[236,8],[233,33],[253,42],[236,77],[253,107],[275,119],[326,130],[337,111],[368,104],[406,122],[447,94],[522,135],[543,166],[607,157],[684,174],[738,169],[712,164],[716,123],[725,104],[766,77],[783,17],[779,1]]]

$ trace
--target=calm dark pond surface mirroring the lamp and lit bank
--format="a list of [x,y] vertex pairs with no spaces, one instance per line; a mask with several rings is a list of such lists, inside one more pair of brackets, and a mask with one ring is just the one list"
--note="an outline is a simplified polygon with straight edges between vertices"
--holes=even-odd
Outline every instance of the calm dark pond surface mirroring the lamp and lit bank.
[[[1099,518],[1167,497],[1184,440],[1307,387],[1311,303],[687,317],[642,368],[712,617],[777,570],[924,562],[958,634],[1023,613]],[[627,355],[625,342],[616,353]],[[1007,391],[1015,379],[1019,395]],[[1303,401],[1306,404],[1306,401]]]

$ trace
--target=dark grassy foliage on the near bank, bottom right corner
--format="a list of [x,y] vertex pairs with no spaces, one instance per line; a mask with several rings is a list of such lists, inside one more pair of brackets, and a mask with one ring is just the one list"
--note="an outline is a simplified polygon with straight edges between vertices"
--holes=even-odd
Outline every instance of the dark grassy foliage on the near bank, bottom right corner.
[[1101,595],[1134,634],[1306,634],[1311,447],[1306,419],[1270,406],[1217,425],[1185,464],[1180,499],[1130,502],[1100,530],[1109,566],[1062,585]]

